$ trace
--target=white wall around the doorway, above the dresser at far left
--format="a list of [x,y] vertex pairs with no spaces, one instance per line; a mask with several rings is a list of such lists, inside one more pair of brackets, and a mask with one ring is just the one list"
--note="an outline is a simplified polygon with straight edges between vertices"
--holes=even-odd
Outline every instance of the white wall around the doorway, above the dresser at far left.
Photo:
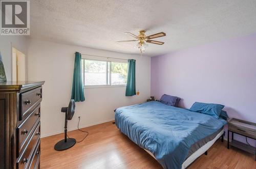
[[12,80],[12,47],[23,52],[26,57],[28,38],[26,36],[0,36],[0,51],[2,53],[6,78],[8,81]]

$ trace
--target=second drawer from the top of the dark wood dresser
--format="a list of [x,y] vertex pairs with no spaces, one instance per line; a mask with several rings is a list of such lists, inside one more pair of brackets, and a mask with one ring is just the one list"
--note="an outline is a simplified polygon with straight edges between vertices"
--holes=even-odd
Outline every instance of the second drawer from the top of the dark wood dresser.
[[[40,121],[40,104],[32,111],[29,117],[17,127],[17,151],[18,154],[23,150],[31,137],[35,124]],[[38,133],[40,135],[40,133]]]

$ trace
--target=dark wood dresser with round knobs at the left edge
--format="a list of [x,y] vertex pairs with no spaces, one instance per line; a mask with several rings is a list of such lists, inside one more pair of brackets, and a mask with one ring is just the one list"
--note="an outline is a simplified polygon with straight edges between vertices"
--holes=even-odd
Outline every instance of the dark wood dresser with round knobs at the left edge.
[[39,168],[44,83],[0,82],[0,168]]

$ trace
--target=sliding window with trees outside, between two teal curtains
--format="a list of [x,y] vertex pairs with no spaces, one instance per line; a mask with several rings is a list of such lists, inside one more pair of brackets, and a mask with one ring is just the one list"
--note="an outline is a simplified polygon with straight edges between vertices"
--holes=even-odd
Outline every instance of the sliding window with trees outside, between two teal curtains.
[[84,86],[126,85],[127,63],[82,59]]

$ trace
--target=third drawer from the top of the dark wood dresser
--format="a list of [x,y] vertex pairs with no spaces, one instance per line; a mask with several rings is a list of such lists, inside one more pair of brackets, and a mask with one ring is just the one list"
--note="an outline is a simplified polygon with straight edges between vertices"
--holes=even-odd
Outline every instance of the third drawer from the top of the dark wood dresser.
[[29,163],[31,162],[32,153],[36,148],[36,143],[39,142],[40,136],[37,134],[40,132],[40,123],[37,125],[33,135],[31,136],[29,143],[27,144],[22,155],[19,156],[17,160],[17,168],[28,168]]

